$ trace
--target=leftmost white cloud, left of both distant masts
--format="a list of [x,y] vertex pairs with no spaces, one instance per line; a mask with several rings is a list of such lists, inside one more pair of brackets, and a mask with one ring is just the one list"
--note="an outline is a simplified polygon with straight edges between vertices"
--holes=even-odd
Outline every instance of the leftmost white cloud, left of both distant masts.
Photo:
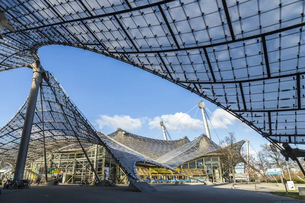
[[130,116],[126,115],[114,115],[112,117],[107,115],[100,115],[100,118],[95,121],[99,128],[102,129],[105,126],[111,128],[122,128],[125,130],[136,130],[142,127],[144,119],[140,118],[131,118]]

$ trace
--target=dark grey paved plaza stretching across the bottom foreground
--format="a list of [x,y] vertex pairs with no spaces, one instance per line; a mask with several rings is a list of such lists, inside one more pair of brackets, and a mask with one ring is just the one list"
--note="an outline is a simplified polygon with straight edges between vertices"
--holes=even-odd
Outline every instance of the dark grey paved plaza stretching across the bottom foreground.
[[302,200],[276,196],[268,190],[281,190],[276,184],[258,184],[258,191],[247,191],[254,185],[230,184],[201,185],[173,184],[153,185],[157,192],[131,192],[127,186],[80,187],[79,185],[32,186],[27,190],[2,190],[0,202],[305,202]]

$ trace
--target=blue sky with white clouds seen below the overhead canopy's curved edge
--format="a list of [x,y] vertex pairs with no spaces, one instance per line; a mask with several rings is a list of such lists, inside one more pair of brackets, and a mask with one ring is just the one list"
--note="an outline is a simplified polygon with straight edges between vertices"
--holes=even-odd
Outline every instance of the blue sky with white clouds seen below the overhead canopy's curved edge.
[[[39,54],[44,69],[55,75],[87,119],[97,130],[105,133],[120,127],[155,138],[162,132],[159,125],[147,132],[161,119],[169,127],[202,99],[158,76],[93,52],[53,45],[41,48]],[[23,104],[29,93],[32,75],[32,70],[27,67],[0,74],[0,125],[4,125]],[[216,119],[228,131],[234,131],[238,141],[250,140],[256,150],[260,149],[261,144],[267,143],[250,127],[217,109],[214,104],[204,101],[207,108],[214,112],[214,118],[211,115],[209,117],[219,139],[228,133]],[[188,138],[193,140],[204,133],[200,110],[193,120],[196,110],[197,107],[168,129],[172,139],[182,138],[188,133]],[[211,126],[210,132],[212,140],[219,143]],[[161,134],[159,139],[162,138]],[[253,149],[250,150],[255,154]]]

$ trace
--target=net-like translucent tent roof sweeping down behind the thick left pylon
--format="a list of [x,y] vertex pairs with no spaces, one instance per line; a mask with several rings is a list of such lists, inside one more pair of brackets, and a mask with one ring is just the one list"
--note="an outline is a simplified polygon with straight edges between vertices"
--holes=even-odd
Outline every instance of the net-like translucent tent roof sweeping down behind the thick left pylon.
[[[121,147],[121,144],[101,132],[98,134],[52,74],[45,73],[45,82],[42,83],[40,92],[36,103],[27,162],[43,156],[45,139],[47,153],[71,149],[80,143],[89,143],[89,146],[102,145],[125,173],[133,179],[138,179],[135,170],[136,162],[147,162],[174,171],[168,165],[157,163],[127,147]],[[26,108],[27,99],[14,117],[0,128],[0,161],[16,163]],[[83,147],[86,146],[88,145],[83,144]]]

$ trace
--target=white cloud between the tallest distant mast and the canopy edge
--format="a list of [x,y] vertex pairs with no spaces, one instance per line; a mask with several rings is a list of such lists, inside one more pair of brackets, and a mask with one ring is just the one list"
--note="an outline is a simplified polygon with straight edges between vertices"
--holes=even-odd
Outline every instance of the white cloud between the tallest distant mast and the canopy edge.
[[[212,114],[213,116],[210,119],[215,129],[222,128],[222,125],[227,128],[228,125],[233,125],[236,123],[236,121],[238,121],[235,116],[223,109],[216,109]],[[208,124],[210,125],[209,121]]]

